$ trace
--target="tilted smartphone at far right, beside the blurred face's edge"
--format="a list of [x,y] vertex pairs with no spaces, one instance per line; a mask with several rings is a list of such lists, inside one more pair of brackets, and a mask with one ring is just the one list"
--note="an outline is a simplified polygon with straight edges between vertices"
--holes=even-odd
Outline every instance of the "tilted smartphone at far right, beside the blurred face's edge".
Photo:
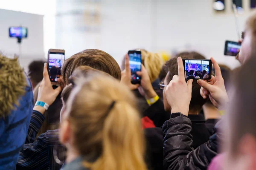
[[241,43],[234,41],[225,42],[224,55],[226,56],[237,56],[241,48]]

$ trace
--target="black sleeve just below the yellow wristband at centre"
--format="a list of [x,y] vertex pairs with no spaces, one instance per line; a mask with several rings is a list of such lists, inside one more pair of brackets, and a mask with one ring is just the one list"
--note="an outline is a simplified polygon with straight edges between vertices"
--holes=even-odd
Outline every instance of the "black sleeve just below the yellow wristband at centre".
[[170,113],[164,110],[163,101],[161,99],[158,99],[157,102],[149,106],[149,108],[143,112],[143,116],[148,116],[156,127],[162,127],[163,123],[170,119]]

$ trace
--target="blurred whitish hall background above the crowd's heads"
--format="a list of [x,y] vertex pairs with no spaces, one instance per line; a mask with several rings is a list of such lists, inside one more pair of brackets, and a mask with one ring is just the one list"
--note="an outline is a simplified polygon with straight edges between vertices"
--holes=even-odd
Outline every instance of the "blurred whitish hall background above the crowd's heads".
[[[236,3],[241,32],[256,0]],[[10,26],[27,27],[28,37],[17,43]],[[66,58],[97,48],[119,64],[134,48],[195,50],[235,68],[235,57],[224,56],[225,40],[238,41],[232,0],[0,0],[0,51],[17,54],[25,69],[47,60],[49,48],[64,49]]]

